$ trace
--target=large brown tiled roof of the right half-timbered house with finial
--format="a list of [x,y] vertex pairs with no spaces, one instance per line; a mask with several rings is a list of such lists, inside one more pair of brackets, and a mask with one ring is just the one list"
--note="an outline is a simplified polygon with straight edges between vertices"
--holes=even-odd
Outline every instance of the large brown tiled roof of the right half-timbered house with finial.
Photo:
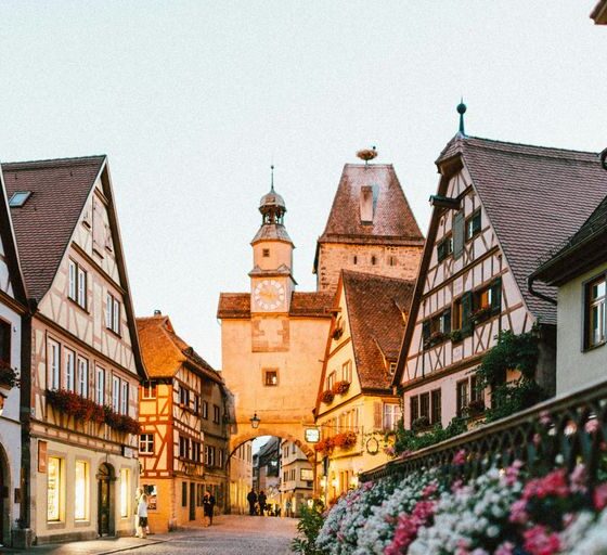
[[[607,173],[600,168],[598,154],[457,133],[437,166],[441,173],[439,195],[445,194],[451,176],[466,167],[527,308],[541,322],[555,324],[555,306],[531,295],[527,279],[539,258],[579,229],[607,194]],[[441,214],[440,208],[432,210],[395,384],[402,378]],[[538,284],[537,289],[556,298],[554,287]]]

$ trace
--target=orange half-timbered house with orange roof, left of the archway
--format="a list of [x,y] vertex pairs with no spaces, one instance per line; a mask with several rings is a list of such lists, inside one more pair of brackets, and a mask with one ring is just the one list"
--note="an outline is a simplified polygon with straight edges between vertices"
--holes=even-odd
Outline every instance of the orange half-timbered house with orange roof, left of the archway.
[[222,509],[227,489],[221,376],[175,332],[167,315],[138,319],[150,380],[140,391],[141,483],[155,532],[203,519],[203,495]]

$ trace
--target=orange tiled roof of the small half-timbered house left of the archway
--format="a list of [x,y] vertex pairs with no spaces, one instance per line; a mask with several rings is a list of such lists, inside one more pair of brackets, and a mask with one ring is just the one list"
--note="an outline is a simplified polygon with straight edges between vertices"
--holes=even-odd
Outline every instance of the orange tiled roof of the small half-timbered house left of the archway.
[[168,315],[138,318],[137,327],[150,377],[171,378],[189,362],[201,374],[218,384],[223,383],[212,366],[175,333]]

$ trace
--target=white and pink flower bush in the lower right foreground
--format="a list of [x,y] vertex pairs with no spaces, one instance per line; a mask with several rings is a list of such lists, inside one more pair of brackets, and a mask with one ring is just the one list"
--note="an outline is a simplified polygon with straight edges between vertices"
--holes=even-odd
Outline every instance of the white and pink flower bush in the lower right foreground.
[[452,464],[363,483],[325,514],[322,555],[606,555],[607,481],[583,465],[529,474],[516,461],[464,482]]

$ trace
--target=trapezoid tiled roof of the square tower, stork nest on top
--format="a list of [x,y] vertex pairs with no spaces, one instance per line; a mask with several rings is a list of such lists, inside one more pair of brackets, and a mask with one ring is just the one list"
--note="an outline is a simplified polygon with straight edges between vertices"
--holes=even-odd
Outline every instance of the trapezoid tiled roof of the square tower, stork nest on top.
[[[362,222],[360,195],[363,185],[374,188],[374,218]],[[319,243],[423,244],[424,236],[400,186],[391,164],[346,164],[331,214]]]

